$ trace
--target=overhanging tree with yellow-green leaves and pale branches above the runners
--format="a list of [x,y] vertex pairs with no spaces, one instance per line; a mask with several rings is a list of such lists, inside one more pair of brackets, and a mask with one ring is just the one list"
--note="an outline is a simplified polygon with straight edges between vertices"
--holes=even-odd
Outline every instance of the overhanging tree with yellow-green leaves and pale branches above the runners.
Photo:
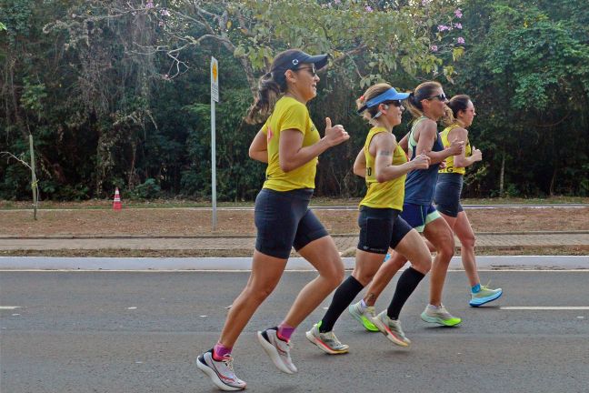
[[462,48],[447,39],[456,4],[449,0],[185,0],[166,6],[151,1],[134,6],[115,1],[108,17],[143,13],[158,20],[157,43],[138,46],[145,54],[163,54],[172,60],[164,77],[189,69],[183,56],[190,48],[213,42],[235,55],[255,92],[255,72],[269,71],[274,55],[290,47],[332,55],[332,64],[348,71],[350,82],[359,79],[361,86],[397,69],[410,75],[451,77],[454,67],[444,65],[441,55],[453,52],[454,60],[462,55]]

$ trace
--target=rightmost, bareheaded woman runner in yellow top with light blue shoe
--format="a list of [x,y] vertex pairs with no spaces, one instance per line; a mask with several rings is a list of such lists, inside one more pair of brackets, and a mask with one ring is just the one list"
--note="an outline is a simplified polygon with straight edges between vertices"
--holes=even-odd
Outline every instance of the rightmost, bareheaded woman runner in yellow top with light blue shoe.
[[446,128],[440,134],[442,142],[445,147],[449,146],[448,140],[463,139],[465,150],[463,154],[450,156],[446,160],[446,167],[440,169],[435,186],[434,201],[440,215],[444,217],[462,245],[460,255],[464,272],[471,287],[469,304],[472,307],[480,307],[496,300],[503,294],[501,288],[494,289],[481,285],[474,257],[473,227],[471,227],[466,212],[460,204],[465,168],[481,161],[483,154],[479,149],[471,148],[468,140],[467,128],[473,124],[476,115],[470,97],[466,95],[454,96],[448,103],[448,107],[452,109],[452,116],[444,119]]

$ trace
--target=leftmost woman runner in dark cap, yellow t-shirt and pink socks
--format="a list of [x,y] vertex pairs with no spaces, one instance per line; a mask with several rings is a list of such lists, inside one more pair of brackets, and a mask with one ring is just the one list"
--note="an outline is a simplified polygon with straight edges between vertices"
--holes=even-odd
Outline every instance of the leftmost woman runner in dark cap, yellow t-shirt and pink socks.
[[319,277],[301,290],[277,327],[257,333],[262,348],[281,371],[296,372],[289,344],[293,331],[344,277],[334,240],[308,208],[317,156],[350,137],[343,126],[332,126],[329,117],[324,137],[319,136],[305,106],[317,94],[316,70],[326,64],[327,55],[312,56],[296,49],[276,55],[271,71],[260,79],[258,97],[246,118],[254,123],[270,115],[249,151],[252,158],[268,164],[264,188],[255,198],[257,238],[252,273],[229,311],[215,348],[196,361],[223,390],[245,388],[245,382],[235,376],[231,350],[257,307],[278,284],[293,247],[317,269]]

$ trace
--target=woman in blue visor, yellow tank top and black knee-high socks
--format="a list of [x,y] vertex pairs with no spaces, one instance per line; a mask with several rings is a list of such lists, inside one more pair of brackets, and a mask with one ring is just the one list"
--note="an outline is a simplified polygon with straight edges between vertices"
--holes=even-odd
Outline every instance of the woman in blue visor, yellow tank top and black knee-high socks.
[[[430,161],[427,156],[419,155],[407,162],[394,138],[393,127],[401,123],[404,110],[401,100],[407,96],[406,93],[397,93],[387,84],[378,84],[368,88],[356,102],[358,113],[364,114],[374,127],[366,136],[364,148],[354,163],[354,173],[365,177],[368,187],[366,196],[360,202],[360,237],[355,267],[352,275],[335,290],[324,317],[306,333],[309,341],[328,354],[348,351],[348,346],[340,343],[333,332],[335,321],[346,307],[352,317],[370,324],[374,331],[380,330],[394,344],[402,347],[411,344],[398,317],[405,301],[429,270],[431,257],[424,240],[399,214],[403,208],[407,172],[426,169]],[[412,261],[412,267],[399,277],[391,305],[379,315],[375,315],[374,307],[366,307],[362,303],[351,306],[354,297],[383,263],[389,247]]]

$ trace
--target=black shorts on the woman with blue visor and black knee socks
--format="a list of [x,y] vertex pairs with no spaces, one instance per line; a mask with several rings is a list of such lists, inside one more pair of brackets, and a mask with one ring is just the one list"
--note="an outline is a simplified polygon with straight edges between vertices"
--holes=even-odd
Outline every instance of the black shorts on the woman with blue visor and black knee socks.
[[412,229],[399,213],[399,210],[391,208],[360,207],[358,249],[374,254],[386,254],[389,247],[397,247]]

